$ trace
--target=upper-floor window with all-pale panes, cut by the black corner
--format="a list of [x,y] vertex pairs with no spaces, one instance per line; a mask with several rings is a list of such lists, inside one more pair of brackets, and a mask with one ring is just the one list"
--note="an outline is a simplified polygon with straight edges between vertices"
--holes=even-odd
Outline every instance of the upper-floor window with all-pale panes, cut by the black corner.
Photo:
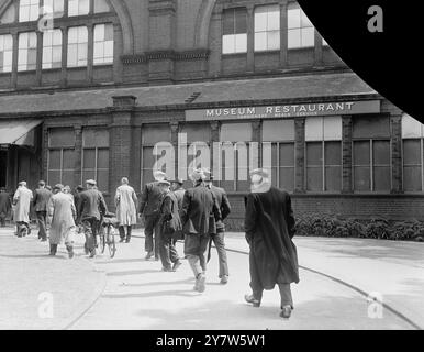
[[310,47],[315,43],[315,30],[298,3],[288,7],[288,47]]

